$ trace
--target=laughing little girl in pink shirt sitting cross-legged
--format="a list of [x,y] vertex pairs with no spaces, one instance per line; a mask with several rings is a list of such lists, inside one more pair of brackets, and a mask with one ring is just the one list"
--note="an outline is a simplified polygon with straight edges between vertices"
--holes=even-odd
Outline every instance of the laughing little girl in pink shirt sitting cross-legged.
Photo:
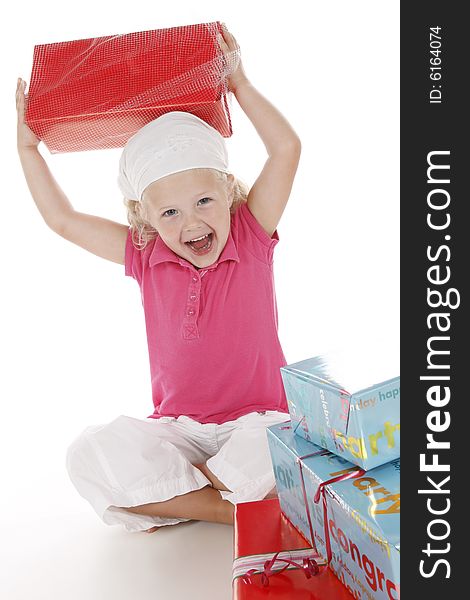
[[[238,50],[225,27],[219,44],[225,55]],[[228,84],[268,153],[249,193],[229,173],[215,129],[167,113],[122,153],[128,227],[73,209],[24,122],[18,80],[18,152],[45,222],[123,264],[140,286],[155,410],[146,420],[88,427],[67,453],[78,492],[105,523],[128,531],[190,519],[232,523],[236,503],[274,488],[266,427],[289,417],[273,251],[300,142],[241,62]]]

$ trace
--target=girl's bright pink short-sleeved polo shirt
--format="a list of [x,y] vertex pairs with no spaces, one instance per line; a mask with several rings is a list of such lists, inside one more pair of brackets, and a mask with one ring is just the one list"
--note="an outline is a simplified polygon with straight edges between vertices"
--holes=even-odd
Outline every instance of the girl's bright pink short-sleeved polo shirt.
[[242,204],[219,259],[196,269],[160,237],[137,250],[130,230],[125,273],[145,312],[155,411],[224,423],[253,411],[287,412],[280,367],[270,238]]

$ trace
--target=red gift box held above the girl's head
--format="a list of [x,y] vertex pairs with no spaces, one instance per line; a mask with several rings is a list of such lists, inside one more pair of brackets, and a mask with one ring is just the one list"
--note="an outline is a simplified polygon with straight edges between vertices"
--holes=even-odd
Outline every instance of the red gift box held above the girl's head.
[[224,57],[219,31],[214,22],[37,45],[26,122],[52,153],[122,147],[173,110],[229,137],[234,56]]

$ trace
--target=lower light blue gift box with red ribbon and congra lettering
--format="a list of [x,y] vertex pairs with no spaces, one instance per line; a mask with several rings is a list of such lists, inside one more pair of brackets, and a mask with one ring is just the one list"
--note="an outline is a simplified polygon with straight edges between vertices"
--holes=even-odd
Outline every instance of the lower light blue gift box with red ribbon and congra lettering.
[[330,568],[356,598],[396,600],[400,581],[400,461],[364,472],[299,436],[290,423],[268,428],[268,441],[281,510],[327,559],[324,487]]

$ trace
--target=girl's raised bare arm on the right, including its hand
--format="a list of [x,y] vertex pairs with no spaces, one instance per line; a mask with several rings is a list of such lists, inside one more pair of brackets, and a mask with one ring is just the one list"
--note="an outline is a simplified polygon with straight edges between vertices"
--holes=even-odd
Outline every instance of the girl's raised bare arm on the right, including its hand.
[[[224,54],[238,44],[226,27],[219,39]],[[300,139],[287,119],[248,80],[241,62],[229,77],[246,116],[255,126],[268,152],[268,159],[248,195],[248,208],[269,236],[272,236],[286,207],[299,164]]]

